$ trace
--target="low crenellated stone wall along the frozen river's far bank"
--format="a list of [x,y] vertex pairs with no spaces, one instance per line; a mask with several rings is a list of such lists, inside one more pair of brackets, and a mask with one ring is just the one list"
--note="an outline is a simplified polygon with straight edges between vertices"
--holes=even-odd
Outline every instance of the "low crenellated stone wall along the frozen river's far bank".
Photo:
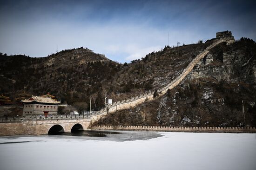
[[249,132],[256,127],[181,127],[181,126],[92,126],[91,130],[156,131],[156,132]]

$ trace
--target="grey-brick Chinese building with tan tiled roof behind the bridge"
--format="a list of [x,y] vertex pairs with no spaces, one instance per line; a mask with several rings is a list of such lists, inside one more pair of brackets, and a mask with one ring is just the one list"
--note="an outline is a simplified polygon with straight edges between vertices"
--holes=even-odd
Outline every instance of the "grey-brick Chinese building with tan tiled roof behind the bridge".
[[32,96],[27,100],[22,100],[24,103],[23,116],[25,115],[54,115],[58,113],[58,104],[50,97]]

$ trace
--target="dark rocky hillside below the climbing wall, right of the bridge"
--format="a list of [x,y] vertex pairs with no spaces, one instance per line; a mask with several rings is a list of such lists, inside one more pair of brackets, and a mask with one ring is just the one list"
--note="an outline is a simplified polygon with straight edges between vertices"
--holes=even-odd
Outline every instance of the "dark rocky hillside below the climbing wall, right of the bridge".
[[[162,97],[109,114],[99,125],[256,126],[256,45],[217,45]],[[245,120],[242,116],[244,102]]]

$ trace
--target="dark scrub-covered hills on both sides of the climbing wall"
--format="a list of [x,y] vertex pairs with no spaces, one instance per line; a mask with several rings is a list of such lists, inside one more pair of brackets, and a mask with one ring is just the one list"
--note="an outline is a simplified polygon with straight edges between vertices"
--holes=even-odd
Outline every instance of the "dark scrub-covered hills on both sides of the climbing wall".
[[[104,107],[108,98],[121,101],[155,91],[172,80],[212,42],[164,49],[131,61],[116,63],[92,50],[63,50],[48,57],[0,56],[0,93],[14,101],[24,90],[47,92],[80,110]],[[219,44],[195,66],[179,86],[135,108],[102,118],[104,125],[256,126],[256,44],[241,38]],[[82,105],[82,107],[81,107]]]

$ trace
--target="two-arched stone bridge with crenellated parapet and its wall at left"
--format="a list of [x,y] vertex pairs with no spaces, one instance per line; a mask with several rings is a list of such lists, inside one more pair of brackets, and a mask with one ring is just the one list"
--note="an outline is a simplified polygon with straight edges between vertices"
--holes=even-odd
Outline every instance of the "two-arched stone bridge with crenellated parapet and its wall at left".
[[83,116],[41,117],[38,115],[25,118],[8,118],[0,120],[0,136],[28,134],[42,135],[56,132],[85,130],[91,125],[91,119]]

